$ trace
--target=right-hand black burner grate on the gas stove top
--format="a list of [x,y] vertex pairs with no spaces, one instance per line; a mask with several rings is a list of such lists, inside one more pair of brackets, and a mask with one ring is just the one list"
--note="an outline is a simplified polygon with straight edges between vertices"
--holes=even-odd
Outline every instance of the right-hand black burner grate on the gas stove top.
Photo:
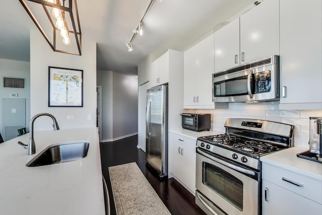
[[241,150],[243,152],[257,154],[272,150],[273,146],[261,141],[247,140],[244,143],[238,142],[237,144],[233,144],[232,148]]

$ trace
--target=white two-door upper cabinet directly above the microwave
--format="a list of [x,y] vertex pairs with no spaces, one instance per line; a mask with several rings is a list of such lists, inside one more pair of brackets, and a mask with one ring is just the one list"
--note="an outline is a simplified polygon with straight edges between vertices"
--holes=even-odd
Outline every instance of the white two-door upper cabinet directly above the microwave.
[[215,32],[215,73],[279,55],[279,0],[266,0]]

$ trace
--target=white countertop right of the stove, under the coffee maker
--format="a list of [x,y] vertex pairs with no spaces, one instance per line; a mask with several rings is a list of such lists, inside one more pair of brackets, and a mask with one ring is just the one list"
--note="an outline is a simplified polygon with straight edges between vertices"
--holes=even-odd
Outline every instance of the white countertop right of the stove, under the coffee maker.
[[262,156],[261,161],[322,181],[321,163],[298,158],[296,156],[296,154],[305,151],[307,151],[307,149],[292,147]]

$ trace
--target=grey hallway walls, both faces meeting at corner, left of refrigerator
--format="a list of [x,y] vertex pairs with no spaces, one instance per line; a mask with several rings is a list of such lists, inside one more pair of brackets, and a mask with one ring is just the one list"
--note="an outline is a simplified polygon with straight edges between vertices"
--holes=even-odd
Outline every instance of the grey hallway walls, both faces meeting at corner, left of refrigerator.
[[137,79],[97,70],[102,86],[102,142],[137,134]]

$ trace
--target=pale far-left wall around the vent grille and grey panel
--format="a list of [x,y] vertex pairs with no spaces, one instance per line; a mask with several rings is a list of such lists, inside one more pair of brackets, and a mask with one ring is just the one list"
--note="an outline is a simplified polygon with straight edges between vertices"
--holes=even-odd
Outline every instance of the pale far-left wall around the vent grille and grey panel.
[[[4,88],[4,77],[22,78],[25,89]],[[30,121],[30,62],[0,59],[0,133],[2,131],[2,98],[12,98],[11,93],[18,93],[19,99],[26,99],[26,128],[29,130]],[[17,132],[18,135],[18,132]]]

